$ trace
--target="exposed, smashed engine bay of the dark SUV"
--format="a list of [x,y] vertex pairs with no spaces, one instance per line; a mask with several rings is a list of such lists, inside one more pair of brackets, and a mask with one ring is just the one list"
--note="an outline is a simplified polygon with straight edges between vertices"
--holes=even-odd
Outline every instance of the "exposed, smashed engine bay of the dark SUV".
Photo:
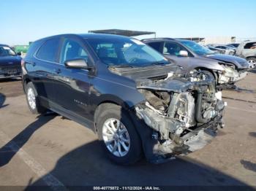
[[214,77],[208,71],[194,71],[186,77],[176,71],[154,77],[142,77],[141,72],[140,77],[132,76],[146,99],[135,106],[135,114],[152,129],[151,139],[157,141],[153,152],[159,160],[203,148],[215,136],[217,127],[224,127],[226,104],[222,92],[216,90]]

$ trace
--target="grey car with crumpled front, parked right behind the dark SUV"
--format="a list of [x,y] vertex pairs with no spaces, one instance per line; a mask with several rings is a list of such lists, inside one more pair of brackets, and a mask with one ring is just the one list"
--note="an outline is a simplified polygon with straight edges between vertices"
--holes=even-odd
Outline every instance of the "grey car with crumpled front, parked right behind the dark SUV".
[[192,70],[210,71],[220,88],[233,85],[247,74],[249,65],[245,59],[216,54],[196,42],[170,38],[144,39],[143,42],[182,66],[184,73]]

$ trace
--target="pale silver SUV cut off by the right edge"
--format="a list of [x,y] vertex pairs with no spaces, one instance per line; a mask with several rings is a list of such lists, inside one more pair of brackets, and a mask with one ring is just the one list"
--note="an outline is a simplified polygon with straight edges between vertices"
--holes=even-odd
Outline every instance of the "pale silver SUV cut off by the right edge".
[[249,63],[249,69],[256,68],[256,41],[246,41],[239,44],[236,55],[245,58]]

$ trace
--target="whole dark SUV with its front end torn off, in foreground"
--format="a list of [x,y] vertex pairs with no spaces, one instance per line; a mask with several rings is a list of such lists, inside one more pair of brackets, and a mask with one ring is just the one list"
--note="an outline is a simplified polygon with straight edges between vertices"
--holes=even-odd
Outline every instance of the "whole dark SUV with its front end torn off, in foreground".
[[32,113],[53,110],[98,134],[119,164],[162,163],[204,147],[223,126],[225,103],[207,72],[181,77],[137,39],[67,34],[40,39],[24,58]]

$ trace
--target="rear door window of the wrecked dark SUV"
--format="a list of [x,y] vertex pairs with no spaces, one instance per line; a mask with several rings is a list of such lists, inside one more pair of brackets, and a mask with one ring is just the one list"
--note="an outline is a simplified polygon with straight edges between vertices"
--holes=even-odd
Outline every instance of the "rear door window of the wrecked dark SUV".
[[44,61],[55,62],[58,50],[59,38],[49,39],[44,44],[42,44],[42,47],[39,48],[39,51],[37,52],[37,58]]

